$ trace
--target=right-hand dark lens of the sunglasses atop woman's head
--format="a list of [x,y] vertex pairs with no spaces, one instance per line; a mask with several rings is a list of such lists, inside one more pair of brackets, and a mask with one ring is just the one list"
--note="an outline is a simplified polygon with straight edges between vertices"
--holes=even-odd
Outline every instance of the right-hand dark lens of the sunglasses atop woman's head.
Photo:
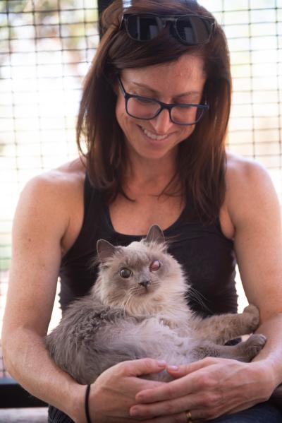
[[212,21],[198,16],[178,18],[176,30],[185,44],[204,44],[212,34]]

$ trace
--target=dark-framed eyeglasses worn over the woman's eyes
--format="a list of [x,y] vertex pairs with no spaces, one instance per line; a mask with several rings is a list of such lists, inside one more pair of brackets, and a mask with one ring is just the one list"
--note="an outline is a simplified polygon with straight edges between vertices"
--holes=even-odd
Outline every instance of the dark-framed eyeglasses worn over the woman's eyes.
[[128,94],[123,87],[121,78],[118,76],[118,85],[125,98],[125,110],[131,117],[137,119],[150,120],[157,117],[162,110],[168,110],[169,117],[173,124],[189,126],[195,125],[202,118],[204,112],[209,109],[209,105],[192,105],[188,103],[175,103],[168,105],[153,100],[152,98],[142,97],[140,95]]

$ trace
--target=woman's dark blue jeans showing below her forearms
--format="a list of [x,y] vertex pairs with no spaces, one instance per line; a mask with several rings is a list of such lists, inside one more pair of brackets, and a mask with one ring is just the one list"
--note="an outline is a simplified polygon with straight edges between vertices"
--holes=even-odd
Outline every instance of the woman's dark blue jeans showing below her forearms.
[[[257,404],[255,407],[236,412],[233,415],[209,420],[210,423],[282,423],[282,412],[271,403]],[[49,407],[48,423],[73,423],[73,420],[60,410]],[[94,422],[93,422],[94,423]]]

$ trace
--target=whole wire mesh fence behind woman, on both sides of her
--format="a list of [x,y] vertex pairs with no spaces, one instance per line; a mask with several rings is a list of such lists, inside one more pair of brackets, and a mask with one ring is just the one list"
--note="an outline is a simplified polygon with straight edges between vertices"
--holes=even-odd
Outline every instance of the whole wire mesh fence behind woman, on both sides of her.
[[[266,166],[281,196],[282,0],[199,2],[222,23],[231,50],[228,148]],[[35,174],[77,155],[75,120],[97,20],[96,0],[0,1],[0,329],[18,195]]]

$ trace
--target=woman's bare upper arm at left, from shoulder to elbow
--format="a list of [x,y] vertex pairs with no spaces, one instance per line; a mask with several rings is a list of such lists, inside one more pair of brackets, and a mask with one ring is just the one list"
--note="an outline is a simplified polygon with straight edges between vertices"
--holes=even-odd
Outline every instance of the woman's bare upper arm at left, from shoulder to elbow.
[[32,178],[20,195],[13,220],[7,332],[25,324],[42,336],[47,332],[61,256],[83,216],[84,175],[75,160]]

